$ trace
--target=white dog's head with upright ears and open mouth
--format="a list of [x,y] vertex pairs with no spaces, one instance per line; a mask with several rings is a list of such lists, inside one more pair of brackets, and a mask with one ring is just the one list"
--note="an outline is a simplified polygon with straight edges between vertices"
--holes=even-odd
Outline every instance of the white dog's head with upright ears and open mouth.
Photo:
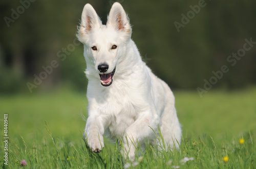
[[87,69],[99,74],[102,86],[112,84],[131,34],[129,18],[119,3],[113,4],[106,25],[90,4],[84,6],[77,37],[84,44]]

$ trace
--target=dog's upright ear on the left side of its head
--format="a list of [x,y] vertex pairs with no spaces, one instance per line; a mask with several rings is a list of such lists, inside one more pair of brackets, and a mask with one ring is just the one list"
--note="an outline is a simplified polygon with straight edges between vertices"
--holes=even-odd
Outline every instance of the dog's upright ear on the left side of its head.
[[78,39],[82,40],[83,36],[90,34],[93,27],[100,27],[101,20],[96,11],[90,4],[86,4],[82,11],[81,24],[78,30]]

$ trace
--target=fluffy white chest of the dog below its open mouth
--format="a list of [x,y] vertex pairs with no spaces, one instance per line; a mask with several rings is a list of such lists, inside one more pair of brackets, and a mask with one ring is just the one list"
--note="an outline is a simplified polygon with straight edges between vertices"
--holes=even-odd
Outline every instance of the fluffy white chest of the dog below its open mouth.
[[118,82],[116,80],[110,88],[89,96],[89,99],[93,98],[90,107],[102,115],[108,124],[105,131],[114,137],[122,137],[145,106],[139,92]]

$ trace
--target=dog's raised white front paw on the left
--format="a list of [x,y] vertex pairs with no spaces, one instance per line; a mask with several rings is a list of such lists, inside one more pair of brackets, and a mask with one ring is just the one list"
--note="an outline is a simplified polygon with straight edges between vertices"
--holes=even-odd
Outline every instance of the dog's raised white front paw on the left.
[[88,136],[87,142],[94,153],[99,153],[104,148],[103,136],[100,134]]

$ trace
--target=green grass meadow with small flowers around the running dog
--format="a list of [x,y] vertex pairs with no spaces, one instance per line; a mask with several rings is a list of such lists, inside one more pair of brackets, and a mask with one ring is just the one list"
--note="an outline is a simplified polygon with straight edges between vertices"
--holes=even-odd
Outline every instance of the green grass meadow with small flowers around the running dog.
[[[149,146],[134,163],[125,162],[120,145],[105,140],[95,154],[84,143],[87,100],[84,94],[0,97],[0,132],[8,114],[8,166],[0,142],[3,168],[256,168],[256,89],[175,92],[178,117],[183,125],[180,151],[158,152]],[[244,138],[243,144],[239,140]],[[4,140],[4,139],[2,139]],[[223,157],[228,156],[225,162]],[[193,157],[182,164],[184,157]],[[20,161],[25,159],[26,166]],[[135,166],[136,165],[136,166]]]

